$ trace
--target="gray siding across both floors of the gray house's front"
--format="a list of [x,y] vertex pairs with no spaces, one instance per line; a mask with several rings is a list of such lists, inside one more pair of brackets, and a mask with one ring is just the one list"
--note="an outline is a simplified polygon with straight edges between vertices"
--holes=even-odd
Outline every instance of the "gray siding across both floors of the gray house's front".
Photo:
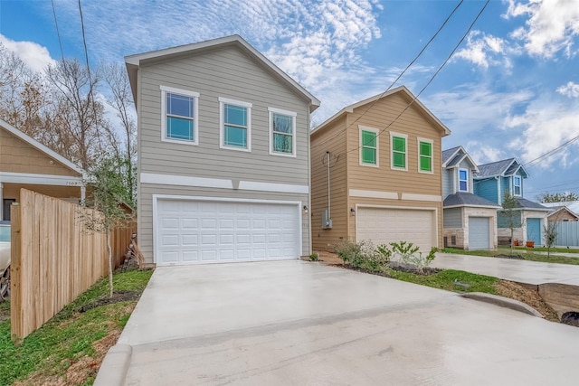
[[[199,93],[198,145],[161,140],[161,86]],[[220,148],[219,98],[251,103],[251,152]],[[296,113],[296,157],[270,155],[268,108]],[[240,181],[291,184],[308,189],[309,101],[290,90],[234,46],[170,61],[141,63],[138,72],[138,170]],[[308,193],[138,184],[139,248],[153,260],[153,194],[186,197],[299,201]],[[302,254],[310,249],[308,216],[302,215]]]

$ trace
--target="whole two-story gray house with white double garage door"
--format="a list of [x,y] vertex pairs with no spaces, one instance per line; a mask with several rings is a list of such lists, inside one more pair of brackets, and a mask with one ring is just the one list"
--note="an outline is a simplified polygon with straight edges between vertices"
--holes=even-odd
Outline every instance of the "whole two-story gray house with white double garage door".
[[318,99],[238,35],[125,61],[147,262],[307,255],[309,119]]

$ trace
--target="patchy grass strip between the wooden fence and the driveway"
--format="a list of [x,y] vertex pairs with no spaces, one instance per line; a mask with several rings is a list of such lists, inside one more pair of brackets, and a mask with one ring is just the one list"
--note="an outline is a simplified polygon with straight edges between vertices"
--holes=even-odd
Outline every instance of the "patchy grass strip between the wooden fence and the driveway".
[[[0,322],[0,385],[92,384],[152,273],[115,273],[114,303],[108,279],[100,279],[18,344],[11,340],[10,320]],[[0,305],[0,315],[6,312],[8,302]]]

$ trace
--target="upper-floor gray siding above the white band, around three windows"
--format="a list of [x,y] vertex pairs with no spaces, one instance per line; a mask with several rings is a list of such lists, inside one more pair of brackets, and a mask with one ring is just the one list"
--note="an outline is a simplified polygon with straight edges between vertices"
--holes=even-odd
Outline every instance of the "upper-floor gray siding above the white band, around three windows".
[[[160,85],[200,93],[199,146],[161,141]],[[236,49],[147,65],[139,97],[141,172],[308,184],[308,104]],[[219,97],[252,103],[251,153],[219,148]],[[296,158],[269,155],[268,107],[298,114]]]

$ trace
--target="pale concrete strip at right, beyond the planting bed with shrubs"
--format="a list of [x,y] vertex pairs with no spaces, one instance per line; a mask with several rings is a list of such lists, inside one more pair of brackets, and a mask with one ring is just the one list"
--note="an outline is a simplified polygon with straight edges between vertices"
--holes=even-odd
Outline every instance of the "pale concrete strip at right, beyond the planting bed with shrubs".
[[579,266],[518,259],[437,253],[432,267],[459,269],[527,284],[560,283],[579,286]]

